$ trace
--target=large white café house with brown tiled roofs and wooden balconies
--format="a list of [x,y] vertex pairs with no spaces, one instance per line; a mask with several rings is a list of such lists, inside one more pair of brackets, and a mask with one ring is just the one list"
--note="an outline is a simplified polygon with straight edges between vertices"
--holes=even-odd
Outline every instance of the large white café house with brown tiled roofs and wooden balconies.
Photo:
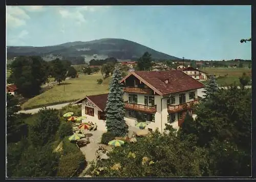
[[[178,129],[187,111],[199,102],[197,89],[204,84],[182,71],[131,72],[120,83],[124,84],[125,121],[135,127],[138,122],[147,122],[145,129],[159,128],[163,132],[169,123]],[[104,109],[108,94],[86,96],[73,104],[82,103],[83,122],[94,122],[99,130],[106,131]]]

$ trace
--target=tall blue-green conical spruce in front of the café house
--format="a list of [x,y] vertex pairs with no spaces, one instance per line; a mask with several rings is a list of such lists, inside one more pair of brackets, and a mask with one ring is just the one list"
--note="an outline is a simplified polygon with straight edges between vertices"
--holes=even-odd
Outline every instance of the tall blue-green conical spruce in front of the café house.
[[123,136],[127,133],[127,125],[124,121],[123,89],[120,84],[121,72],[118,67],[114,70],[110,82],[110,93],[106,101],[106,127],[108,131],[116,136]]

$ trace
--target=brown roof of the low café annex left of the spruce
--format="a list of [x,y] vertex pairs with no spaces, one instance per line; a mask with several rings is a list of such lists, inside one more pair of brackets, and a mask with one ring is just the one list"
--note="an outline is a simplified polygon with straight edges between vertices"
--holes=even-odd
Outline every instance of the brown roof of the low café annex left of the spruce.
[[83,97],[82,99],[77,100],[73,104],[79,104],[81,103],[84,99],[89,99],[90,101],[93,102],[94,105],[96,105],[100,110],[104,111],[106,107],[106,100],[108,99],[109,94],[100,94],[100,95],[94,95],[94,96],[86,96]]

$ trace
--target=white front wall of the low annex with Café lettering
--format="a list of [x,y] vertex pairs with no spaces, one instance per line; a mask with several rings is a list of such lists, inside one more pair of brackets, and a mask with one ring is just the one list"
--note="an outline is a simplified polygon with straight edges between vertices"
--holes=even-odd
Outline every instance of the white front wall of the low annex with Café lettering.
[[[90,103],[90,102],[89,102]],[[94,116],[90,116],[90,115],[86,115],[86,109],[85,107],[93,107],[94,108]],[[105,121],[103,120],[99,120],[98,119],[98,108],[93,105],[93,106],[90,106],[90,105],[86,105],[86,100],[84,100],[82,102],[82,106],[81,106],[81,109],[82,109],[82,116],[85,116],[86,119],[82,120],[82,123],[88,123],[88,122],[93,122],[93,123],[96,123],[97,124],[97,129],[100,130],[100,131],[106,131],[106,124],[105,124]]]

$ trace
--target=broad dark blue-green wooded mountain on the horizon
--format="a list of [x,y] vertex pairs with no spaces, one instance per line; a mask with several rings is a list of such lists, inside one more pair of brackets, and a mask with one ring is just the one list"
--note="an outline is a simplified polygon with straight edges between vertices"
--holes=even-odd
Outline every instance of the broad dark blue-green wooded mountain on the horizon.
[[154,59],[171,59],[180,60],[180,58],[170,56],[142,44],[118,38],[103,38],[92,41],[75,41],[67,42],[59,45],[52,45],[46,47],[7,47],[7,57],[13,58],[17,56],[32,56],[37,55],[43,57],[45,60],[53,59],[55,57],[84,57],[86,61],[91,59],[105,59],[108,57],[115,57],[120,60],[137,59],[141,57],[144,52],[152,54]]

